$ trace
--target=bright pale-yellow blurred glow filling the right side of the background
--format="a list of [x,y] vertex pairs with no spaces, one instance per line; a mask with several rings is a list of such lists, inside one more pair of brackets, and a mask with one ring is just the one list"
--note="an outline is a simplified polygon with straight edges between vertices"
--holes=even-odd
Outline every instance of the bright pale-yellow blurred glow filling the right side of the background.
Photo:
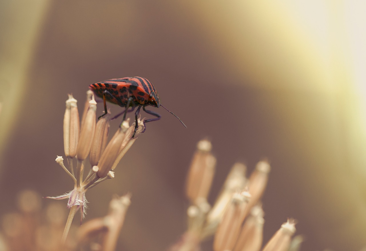
[[[304,156],[315,163],[332,160],[330,165],[309,166],[299,181],[304,204],[313,204],[320,211],[323,205],[328,209],[323,214],[305,212],[314,222],[314,232],[325,242],[339,244],[341,240],[334,236],[362,240],[364,225],[360,222],[366,220],[362,197],[366,178],[366,2],[190,4],[203,22],[202,32],[207,33],[211,49],[221,55],[224,71],[242,77],[242,82],[236,79],[226,84],[249,85],[274,97],[282,91],[287,98],[306,94],[304,97],[317,101],[319,109],[310,110],[304,107],[312,102],[310,98],[291,99],[294,105],[288,107],[273,99],[272,105],[277,106],[273,116],[284,134],[299,143]],[[321,118],[319,124],[315,117]],[[327,138],[317,141],[324,131]],[[322,155],[315,155],[320,152]],[[309,186],[317,186],[316,194],[307,192]],[[343,204],[339,198],[349,200]],[[318,226],[317,221],[332,222],[333,227]]]

